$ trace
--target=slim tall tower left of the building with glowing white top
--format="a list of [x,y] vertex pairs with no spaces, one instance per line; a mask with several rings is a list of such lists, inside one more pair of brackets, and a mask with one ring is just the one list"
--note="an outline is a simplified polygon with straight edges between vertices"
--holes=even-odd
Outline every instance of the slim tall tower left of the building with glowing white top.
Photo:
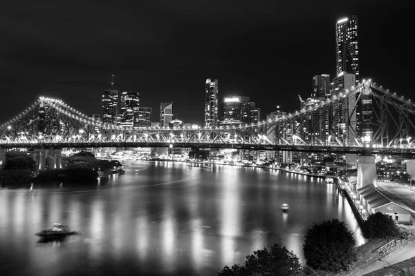
[[206,79],[205,83],[205,127],[219,126],[218,80]]

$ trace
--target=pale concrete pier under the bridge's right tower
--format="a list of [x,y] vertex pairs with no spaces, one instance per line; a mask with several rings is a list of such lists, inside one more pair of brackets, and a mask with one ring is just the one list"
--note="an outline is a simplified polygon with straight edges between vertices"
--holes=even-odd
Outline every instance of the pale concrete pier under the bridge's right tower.
[[376,157],[373,155],[358,156],[358,182],[356,188],[363,186],[378,186],[378,177],[376,174]]

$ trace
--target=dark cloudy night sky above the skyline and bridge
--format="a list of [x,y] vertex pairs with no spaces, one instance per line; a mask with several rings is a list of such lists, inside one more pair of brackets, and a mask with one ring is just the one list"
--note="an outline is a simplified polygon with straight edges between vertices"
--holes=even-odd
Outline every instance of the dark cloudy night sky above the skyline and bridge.
[[412,1],[8,1],[0,8],[0,122],[39,95],[100,113],[111,74],[142,106],[203,123],[205,79],[262,117],[335,71],[335,22],[359,16],[360,75],[415,99]]

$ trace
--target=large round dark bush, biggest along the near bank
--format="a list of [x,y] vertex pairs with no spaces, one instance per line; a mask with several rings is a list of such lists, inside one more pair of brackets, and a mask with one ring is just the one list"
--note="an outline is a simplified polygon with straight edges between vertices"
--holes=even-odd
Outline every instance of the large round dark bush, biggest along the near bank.
[[356,261],[353,233],[344,221],[332,219],[308,228],[303,245],[307,266],[338,272]]

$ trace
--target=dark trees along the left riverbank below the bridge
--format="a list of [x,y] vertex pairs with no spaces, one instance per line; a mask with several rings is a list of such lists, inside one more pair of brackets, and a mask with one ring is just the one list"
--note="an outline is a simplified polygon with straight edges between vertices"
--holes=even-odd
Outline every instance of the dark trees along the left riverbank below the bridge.
[[120,171],[118,160],[96,159],[93,153],[81,151],[69,157],[62,157],[62,168],[35,171],[36,163],[31,152],[7,152],[7,160],[0,171],[0,186],[30,186],[32,183],[56,184],[75,182],[77,184],[96,184],[100,175]]

